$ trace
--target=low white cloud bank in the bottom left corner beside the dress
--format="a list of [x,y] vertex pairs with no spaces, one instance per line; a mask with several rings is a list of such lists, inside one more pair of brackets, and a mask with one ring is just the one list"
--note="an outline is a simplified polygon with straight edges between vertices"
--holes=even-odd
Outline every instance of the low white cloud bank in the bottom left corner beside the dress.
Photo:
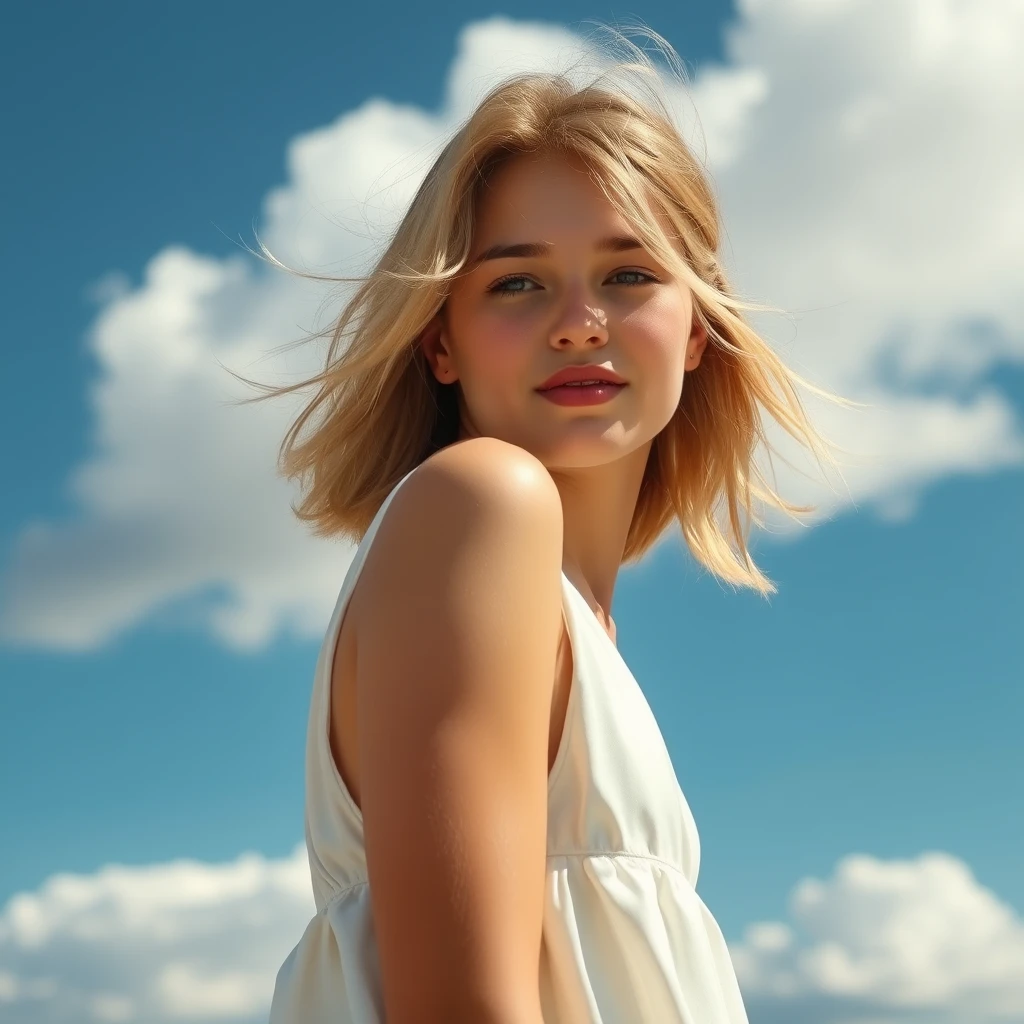
[[315,912],[304,844],[267,860],[56,874],[0,910],[0,1017],[262,1022]]

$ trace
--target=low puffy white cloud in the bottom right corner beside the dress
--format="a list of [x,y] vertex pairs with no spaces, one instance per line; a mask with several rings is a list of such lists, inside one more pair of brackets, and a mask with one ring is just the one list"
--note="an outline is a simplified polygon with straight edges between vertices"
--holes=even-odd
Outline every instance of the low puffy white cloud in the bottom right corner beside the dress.
[[730,947],[752,1019],[1010,1024],[1024,1019],[1024,921],[945,853],[851,855],[805,879],[792,923]]

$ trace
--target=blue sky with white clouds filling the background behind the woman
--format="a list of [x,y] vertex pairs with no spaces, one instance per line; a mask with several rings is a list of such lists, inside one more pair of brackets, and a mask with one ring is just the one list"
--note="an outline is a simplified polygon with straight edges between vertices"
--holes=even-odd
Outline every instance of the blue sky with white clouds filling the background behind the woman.
[[[620,648],[696,817],[698,891],[738,950],[755,1024],[919,1020],[898,1009],[901,984],[940,1024],[1011,1019],[992,1007],[1024,1016],[1010,980],[1014,965],[1024,977],[1024,250],[1012,227],[1024,205],[1012,105],[997,99],[1024,87],[1000,42],[1024,22],[1012,0],[929,10],[559,0],[429,17],[395,4],[382,18],[306,3],[283,19],[262,3],[109,3],[8,18],[0,1010],[261,1019],[307,913],[295,855],[307,701],[349,554],[289,522],[269,469],[283,414],[218,406],[216,386],[228,391],[211,356],[265,378],[271,365],[255,360],[310,329],[324,299],[240,246],[255,225],[292,265],[357,262],[353,203],[440,138],[496,41],[536,59],[582,19],[637,16],[694,73],[737,280],[799,309],[765,322],[780,347],[867,407],[822,414],[853,452],[848,492],[783,478],[822,514],[756,539],[771,600],[700,575],[675,539],[620,577]],[[222,965],[262,978],[254,995],[217,1010],[203,1001],[213,987],[162,974],[153,949],[132,977],[113,954],[83,967],[85,911],[54,877],[80,876],[109,909],[95,894],[121,906],[132,879],[170,891],[180,858],[234,892],[247,852],[281,906],[249,958]],[[131,870],[112,882],[113,864]],[[819,892],[827,927],[811,934]],[[888,902],[868,898],[879,892]],[[956,923],[932,974],[907,957],[896,981],[871,980],[871,940],[848,913],[865,903],[878,903],[872,935],[899,933],[920,905]],[[182,896],[175,912],[188,906]],[[103,948],[144,945],[141,926],[103,913]],[[965,921],[984,926],[962,947]],[[802,948],[837,942],[856,983],[797,971],[772,945],[784,929]],[[902,964],[893,942],[883,955]],[[942,956],[990,963],[992,942],[1019,958],[980,1001],[941,994]],[[790,1002],[764,980],[786,971],[800,979]]]

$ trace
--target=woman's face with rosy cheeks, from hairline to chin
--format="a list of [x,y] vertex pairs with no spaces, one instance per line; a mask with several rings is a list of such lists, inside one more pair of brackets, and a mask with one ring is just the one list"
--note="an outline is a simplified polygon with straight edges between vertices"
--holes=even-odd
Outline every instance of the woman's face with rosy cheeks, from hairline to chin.
[[[460,439],[500,437],[549,468],[649,450],[707,337],[689,289],[652,255],[601,245],[632,234],[578,160],[517,157],[492,178],[466,272],[422,342],[437,380],[461,385]],[[495,252],[523,244],[543,251]],[[627,386],[599,404],[557,404],[537,390],[580,364]]]

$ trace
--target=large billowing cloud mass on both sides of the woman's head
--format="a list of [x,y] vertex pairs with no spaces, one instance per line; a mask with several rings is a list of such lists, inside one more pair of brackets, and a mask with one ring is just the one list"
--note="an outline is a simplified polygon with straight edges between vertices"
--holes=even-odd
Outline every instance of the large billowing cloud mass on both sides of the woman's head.
[[[720,196],[733,281],[791,311],[757,326],[866,404],[814,407],[846,452],[843,481],[823,485],[799,458],[781,468],[783,492],[817,501],[819,518],[854,504],[907,515],[936,479],[1024,462],[1018,412],[991,379],[1024,360],[1022,35],[1015,0],[742,0],[725,63],[672,96]],[[292,265],[365,268],[487,88],[587,52],[557,26],[468,26],[440,110],[376,97],[291,142],[262,237]],[[308,282],[174,247],[137,287],[115,271],[92,294],[100,375],[92,454],[69,482],[79,513],[26,525],[0,631],[87,649],[190,600],[237,648],[317,636],[352,552],[313,540],[274,474],[298,399],[228,404],[248,392],[216,359],[263,380],[311,372],[316,346],[265,356],[343,294],[324,306]]]

